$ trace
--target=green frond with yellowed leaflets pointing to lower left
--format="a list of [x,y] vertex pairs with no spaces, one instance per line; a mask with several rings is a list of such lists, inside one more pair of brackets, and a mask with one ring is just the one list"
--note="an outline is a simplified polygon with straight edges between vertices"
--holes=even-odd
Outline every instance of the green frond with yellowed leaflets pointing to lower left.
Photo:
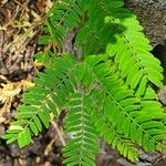
[[56,117],[74,91],[68,79],[74,61],[69,54],[54,59],[51,69],[34,79],[38,85],[23,94],[23,105],[17,110],[17,122],[12,123],[4,136],[7,143],[18,139],[19,146],[23,147],[30,143],[31,135],[42,131],[42,124],[49,127],[50,113]]

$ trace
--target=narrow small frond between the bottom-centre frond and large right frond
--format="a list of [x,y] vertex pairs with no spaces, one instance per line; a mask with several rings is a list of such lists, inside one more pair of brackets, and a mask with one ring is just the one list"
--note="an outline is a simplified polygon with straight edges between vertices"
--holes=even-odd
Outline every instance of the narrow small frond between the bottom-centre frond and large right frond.
[[104,112],[100,110],[102,107],[96,104],[96,98],[92,97],[90,101],[92,106],[92,120],[95,123],[96,131],[103,139],[111,144],[113,148],[116,148],[121,155],[127,157],[129,160],[138,160],[138,149],[134,143],[132,143],[128,137],[125,137],[124,134],[117,132],[111,121],[105,117]]

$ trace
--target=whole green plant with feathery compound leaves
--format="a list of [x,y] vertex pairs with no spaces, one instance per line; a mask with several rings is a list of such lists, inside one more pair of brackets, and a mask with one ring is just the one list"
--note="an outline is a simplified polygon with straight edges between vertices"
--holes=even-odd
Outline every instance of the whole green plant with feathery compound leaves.
[[136,17],[123,6],[123,0],[55,2],[41,43],[55,45],[55,54],[75,28],[82,56],[63,53],[38,74],[3,137],[7,143],[29,145],[43,125],[49,127],[50,113],[58,117],[65,107],[64,129],[72,138],[63,163],[69,166],[95,165],[98,137],[132,162],[139,148],[165,149],[166,114],[152,89],[163,86],[163,69]]

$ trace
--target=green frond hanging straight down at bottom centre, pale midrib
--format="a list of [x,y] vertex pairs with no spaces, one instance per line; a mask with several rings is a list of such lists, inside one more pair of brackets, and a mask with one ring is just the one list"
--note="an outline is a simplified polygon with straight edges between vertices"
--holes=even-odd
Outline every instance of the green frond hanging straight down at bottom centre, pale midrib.
[[70,166],[95,166],[95,156],[98,153],[96,129],[92,123],[86,96],[74,93],[69,103],[65,117],[65,131],[71,139],[64,147],[64,164]]

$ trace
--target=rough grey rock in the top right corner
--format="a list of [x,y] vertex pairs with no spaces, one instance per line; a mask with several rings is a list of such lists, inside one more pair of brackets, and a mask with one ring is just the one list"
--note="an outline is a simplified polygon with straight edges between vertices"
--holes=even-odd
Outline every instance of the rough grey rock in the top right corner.
[[166,0],[125,0],[125,4],[141,21],[155,46],[166,40]]

